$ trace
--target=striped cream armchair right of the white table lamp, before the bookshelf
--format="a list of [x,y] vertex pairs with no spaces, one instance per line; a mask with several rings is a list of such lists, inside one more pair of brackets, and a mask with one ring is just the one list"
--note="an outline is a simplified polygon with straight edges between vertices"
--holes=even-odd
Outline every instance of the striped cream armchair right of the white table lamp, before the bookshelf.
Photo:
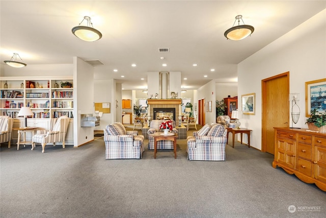
[[61,116],[59,118],[50,119],[50,130],[38,130],[36,135],[32,137],[32,150],[35,148],[35,143],[42,144],[42,153],[47,143],[53,143],[56,146],[56,142],[62,142],[62,148],[65,148],[65,137],[69,125],[69,118],[67,116]]

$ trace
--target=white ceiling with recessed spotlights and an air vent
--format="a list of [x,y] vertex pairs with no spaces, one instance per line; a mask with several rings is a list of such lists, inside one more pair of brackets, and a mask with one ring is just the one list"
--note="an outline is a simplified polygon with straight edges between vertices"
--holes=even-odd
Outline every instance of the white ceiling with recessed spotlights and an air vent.
[[[326,1],[1,1],[0,4],[1,64],[13,53],[20,55],[28,64],[26,67],[71,64],[75,56],[98,59],[104,65],[95,66],[94,79],[116,79],[126,90],[147,87],[147,73],[151,71],[181,71],[181,86],[185,89],[197,89],[210,80],[237,82],[239,62],[326,8]],[[255,31],[241,41],[227,40],[224,32],[233,26],[239,14]],[[93,27],[102,33],[100,40],[85,42],[71,33],[84,16],[90,16]],[[158,48],[169,48],[170,52],[159,53]],[[132,67],[132,63],[137,67]],[[163,67],[162,63],[168,66]],[[215,71],[211,72],[211,68]],[[125,77],[121,78],[122,75]]]

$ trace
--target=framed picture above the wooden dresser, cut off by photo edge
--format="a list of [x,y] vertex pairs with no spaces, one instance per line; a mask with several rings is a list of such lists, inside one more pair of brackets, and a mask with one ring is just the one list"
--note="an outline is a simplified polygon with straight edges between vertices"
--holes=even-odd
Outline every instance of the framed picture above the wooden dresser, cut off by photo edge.
[[[306,82],[306,117],[313,109],[326,112],[326,79]],[[318,114],[317,113],[317,114]]]

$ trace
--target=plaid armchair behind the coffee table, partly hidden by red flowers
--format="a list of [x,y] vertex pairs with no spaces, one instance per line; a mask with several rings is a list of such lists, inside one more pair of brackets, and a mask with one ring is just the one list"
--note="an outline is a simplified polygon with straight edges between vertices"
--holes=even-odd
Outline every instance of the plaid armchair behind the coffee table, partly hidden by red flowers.
[[[154,133],[155,132],[160,132],[161,130],[159,129],[159,126],[161,123],[166,122],[167,120],[164,119],[153,119],[151,120],[151,123],[149,125],[149,130],[148,130],[148,149],[152,150],[154,149]],[[175,128],[175,122],[172,120],[172,132],[178,133],[178,130]],[[173,141],[171,140],[160,140],[157,141],[157,149],[173,149]]]

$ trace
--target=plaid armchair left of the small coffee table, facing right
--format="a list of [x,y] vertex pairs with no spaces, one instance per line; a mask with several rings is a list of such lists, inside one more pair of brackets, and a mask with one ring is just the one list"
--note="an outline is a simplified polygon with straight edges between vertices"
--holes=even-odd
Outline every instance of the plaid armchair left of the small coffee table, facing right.
[[121,123],[107,125],[104,129],[105,159],[140,159],[144,136],[138,131],[126,131]]

